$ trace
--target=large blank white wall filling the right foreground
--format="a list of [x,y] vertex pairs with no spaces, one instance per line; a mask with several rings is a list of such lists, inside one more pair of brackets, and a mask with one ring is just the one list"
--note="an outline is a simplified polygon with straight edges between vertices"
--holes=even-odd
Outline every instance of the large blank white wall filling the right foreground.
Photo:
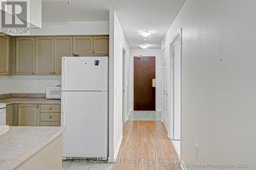
[[185,163],[248,163],[245,169],[256,169],[255,9],[251,0],[187,0],[162,41],[163,47],[183,29]]

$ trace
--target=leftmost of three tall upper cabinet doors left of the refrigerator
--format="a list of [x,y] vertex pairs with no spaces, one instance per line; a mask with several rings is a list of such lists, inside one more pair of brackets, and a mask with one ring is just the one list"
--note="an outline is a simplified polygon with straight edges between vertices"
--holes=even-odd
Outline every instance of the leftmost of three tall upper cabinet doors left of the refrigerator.
[[35,74],[35,38],[16,38],[15,49],[15,74],[34,75]]

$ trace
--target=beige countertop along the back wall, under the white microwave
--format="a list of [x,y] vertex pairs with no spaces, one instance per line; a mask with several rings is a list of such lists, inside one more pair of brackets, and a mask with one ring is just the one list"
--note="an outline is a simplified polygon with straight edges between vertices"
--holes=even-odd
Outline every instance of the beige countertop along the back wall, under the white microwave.
[[0,103],[10,104],[60,104],[59,99],[46,98],[4,98],[0,99]]

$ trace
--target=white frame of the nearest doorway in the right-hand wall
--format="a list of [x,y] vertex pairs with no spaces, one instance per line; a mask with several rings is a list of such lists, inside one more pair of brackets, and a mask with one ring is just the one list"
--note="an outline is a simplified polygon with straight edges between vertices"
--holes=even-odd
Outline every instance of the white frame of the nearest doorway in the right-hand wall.
[[169,112],[169,132],[170,133],[174,133],[174,122],[172,122],[172,114],[174,114],[174,79],[173,79],[173,75],[174,75],[174,59],[172,58],[172,43],[176,40],[176,38],[180,38],[180,159],[182,160],[182,28],[176,33],[176,35],[173,37],[173,39],[168,43],[168,56],[169,56],[169,65],[170,67],[172,67],[172,69],[169,69],[169,82],[170,85],[169,87],[171,88],[170,90],[170,100],[169,100],[169,106],[170,106],[170,112]]

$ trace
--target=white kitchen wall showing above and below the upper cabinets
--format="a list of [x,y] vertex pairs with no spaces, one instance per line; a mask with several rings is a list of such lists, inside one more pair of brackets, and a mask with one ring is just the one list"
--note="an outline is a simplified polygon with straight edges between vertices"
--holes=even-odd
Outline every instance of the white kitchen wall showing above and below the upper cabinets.
[[[43,22],[42,29],[30,29],[33,36],[45,35],[109,35],[108,21]],[[0,76],[0,94],[44,93],[46,86],[61,83],[61,76]]]

